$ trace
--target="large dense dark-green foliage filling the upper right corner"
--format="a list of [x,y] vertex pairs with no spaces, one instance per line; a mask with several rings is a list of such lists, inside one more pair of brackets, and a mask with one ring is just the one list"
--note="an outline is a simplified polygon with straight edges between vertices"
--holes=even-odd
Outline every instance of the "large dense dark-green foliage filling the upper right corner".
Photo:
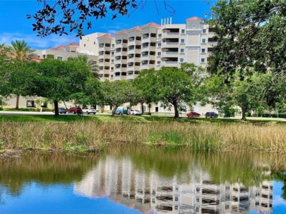
[[211,73],[232,75],[237,68],[265,73],[286,70],[286,1],[220,0],[212,8],[210,27],[216,30],[210,56]]

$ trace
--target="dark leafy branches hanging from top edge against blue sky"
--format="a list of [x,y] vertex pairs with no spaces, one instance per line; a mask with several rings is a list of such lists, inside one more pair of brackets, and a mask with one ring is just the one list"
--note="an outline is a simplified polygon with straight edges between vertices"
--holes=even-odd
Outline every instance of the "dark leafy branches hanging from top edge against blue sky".
[[84,1],[84,0],[38,0],[42,8],[28,18],[35,20],[33,30],[44,37],[49,34],[68,34],[77,31],[76,36],[83,35],[83,27],[92,27],[88,18],[104,18],[107,12],[112,13],[112,19],[117,15],[127,15],[129,9],[137,8],[136,0]]

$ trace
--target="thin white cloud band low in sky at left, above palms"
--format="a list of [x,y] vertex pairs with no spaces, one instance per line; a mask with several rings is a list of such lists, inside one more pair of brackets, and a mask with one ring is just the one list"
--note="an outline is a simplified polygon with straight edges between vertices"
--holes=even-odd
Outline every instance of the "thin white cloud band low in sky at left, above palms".
[[54,46],[65,45],[71,42],[79,42],[79,38],[74,34],[59,36],[52,34],[48,37],[37,37],[35,34],[21,34],[18,32],[1,32],[0,33],[0,44],[5,43],[11,44],[13,40],[25,40],[32,49],[49,49]]

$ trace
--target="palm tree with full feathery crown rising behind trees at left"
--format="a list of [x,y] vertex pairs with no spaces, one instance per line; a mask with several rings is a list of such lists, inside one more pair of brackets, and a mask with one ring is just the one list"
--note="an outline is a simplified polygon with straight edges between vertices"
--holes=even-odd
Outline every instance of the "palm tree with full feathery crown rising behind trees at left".
[[[15,40],[11,42],[11,46],[8,49],[8,56],[13,60],[16,61],[16,63],[20,63],[20,65],[26,61],[32,61],[32,57],[35,56],[35,54],[32,53],[32,50],[30,46],[28,46],[27,42],[25,40]],[[19,98],[20,94],[16,94],[16,109],[19,108]]]

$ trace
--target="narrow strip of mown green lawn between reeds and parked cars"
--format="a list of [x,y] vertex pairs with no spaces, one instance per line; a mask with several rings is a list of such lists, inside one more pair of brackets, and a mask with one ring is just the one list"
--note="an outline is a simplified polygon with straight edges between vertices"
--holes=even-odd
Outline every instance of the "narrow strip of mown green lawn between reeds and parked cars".
[[[286,120],[282,118],[247,118],[249,123],[280,123],[286,124]],[[126,115],[0,115],[0,122],[80,122],[80,121],[130,121],[130,122],[193,122],[193,123],[209,123],[209,122],[226,122],[226,123],[245,123],[240,118],[179,118],[175,120],[169,115],[154,116],[126,116]]]

